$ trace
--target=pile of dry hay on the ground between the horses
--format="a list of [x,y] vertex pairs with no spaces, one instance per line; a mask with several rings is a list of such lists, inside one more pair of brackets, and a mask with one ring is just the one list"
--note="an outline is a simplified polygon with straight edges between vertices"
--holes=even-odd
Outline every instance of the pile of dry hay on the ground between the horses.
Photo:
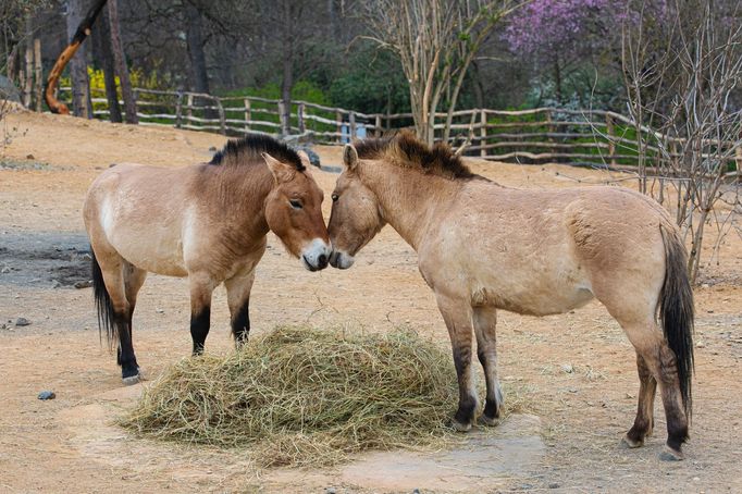
[[247,446],[262,466],[449,436],[458,392],[447,351],[413,332],[277,328],[228,356],[187,358],[123,424],[162,439]]

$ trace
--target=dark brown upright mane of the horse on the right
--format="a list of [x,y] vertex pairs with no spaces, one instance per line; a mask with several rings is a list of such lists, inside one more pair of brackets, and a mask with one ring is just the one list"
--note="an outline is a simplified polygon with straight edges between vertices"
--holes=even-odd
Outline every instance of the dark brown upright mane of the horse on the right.
[[360,159],[386,159],[399,166],[415,168],[446,178],[479,177],[447,145],[436,143],[430,147],[409,132],[381,139],[359,140],[355,147]]

